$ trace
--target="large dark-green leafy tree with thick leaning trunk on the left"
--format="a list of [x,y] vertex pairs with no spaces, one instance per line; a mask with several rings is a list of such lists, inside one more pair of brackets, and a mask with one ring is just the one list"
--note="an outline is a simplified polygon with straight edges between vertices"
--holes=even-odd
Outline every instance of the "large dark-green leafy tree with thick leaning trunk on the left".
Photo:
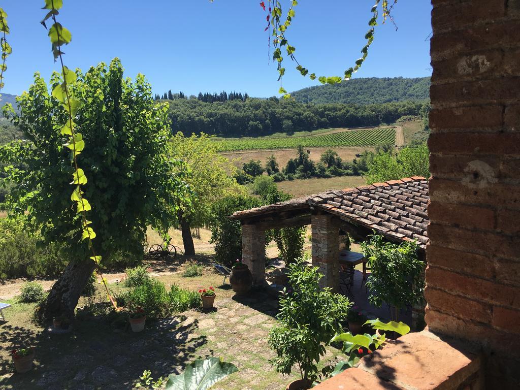
[[[187,193],[183,176],[173,172],[176,166],[180,171],[179,163],[168,159],[167,108],[154,104],[144,76],[138,74],[135,82],[123,78],[119,59],[108,69],[101,63],[80,72],[79,79],[71,93],[81,102],[75,127],[88,145],[79,159],[89,178],[85,198],[96,211],[89,215],[96,227],[96,251],[103,264],[118,253],[142,258],[147,227],[166,236],[176,222],[176,205]],[[58,74],[50,82],[58,85]],[[70,203],[74,168],[59,132],[68,114],[37,73],[29,91],[17,100],[20,114],[13,116],[14,123],[29,141],[0,149],[0,161],[9,166],[7,179],[14,185],[7,207],[13,214],[27,211],[28,228],[40,229],[47,243],[66,245],[70,262],[40,313],[72,317],[95,263],[88,260],[79,214]],[[24,167],[14,168],[19,161]]]

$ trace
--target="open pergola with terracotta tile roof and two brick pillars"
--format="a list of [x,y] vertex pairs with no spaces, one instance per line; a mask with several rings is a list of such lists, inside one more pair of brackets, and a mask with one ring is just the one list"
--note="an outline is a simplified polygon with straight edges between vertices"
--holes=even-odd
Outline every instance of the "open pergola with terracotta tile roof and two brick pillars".
[[312,262],[324,275],[320,283],[338,291],[340,231],[362,240],[373,231],[396,243],[416,240],[424,256],[429,199],[427,180],[412,176],[237,211],[230,218],[241,222],[242,262],[255,285],[266,283],[265,231],[311,225]]

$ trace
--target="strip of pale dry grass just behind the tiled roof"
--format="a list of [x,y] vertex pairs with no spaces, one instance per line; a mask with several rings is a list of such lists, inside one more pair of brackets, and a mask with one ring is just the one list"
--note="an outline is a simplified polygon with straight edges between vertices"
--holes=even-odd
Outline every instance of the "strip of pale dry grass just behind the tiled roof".
[[329,179],[286,180],[277,183],[278,188],[294,197],[303,197],[327,190],[342,190],[367,184],[362,176],[331,177]]

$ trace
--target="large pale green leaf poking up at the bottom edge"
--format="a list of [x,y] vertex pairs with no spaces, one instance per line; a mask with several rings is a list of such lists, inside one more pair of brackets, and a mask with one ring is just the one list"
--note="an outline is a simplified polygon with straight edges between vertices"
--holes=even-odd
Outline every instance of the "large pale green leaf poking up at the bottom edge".
[[207,390],[237,371],[235,365],[216,357],[198,359],[186,366],[184,373],[168,376],[166,390]]

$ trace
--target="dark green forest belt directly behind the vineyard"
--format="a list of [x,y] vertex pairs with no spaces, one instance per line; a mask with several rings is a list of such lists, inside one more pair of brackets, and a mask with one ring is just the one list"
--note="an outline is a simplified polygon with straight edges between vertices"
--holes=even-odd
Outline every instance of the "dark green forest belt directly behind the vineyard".
[[376,105],[304,104],[294,100],[249,98],[206,103],[197,98],[170,100],[172,132],[220,137],[291,134],[329,127],[378,126],[404,115],[419,115],[428,101]]

